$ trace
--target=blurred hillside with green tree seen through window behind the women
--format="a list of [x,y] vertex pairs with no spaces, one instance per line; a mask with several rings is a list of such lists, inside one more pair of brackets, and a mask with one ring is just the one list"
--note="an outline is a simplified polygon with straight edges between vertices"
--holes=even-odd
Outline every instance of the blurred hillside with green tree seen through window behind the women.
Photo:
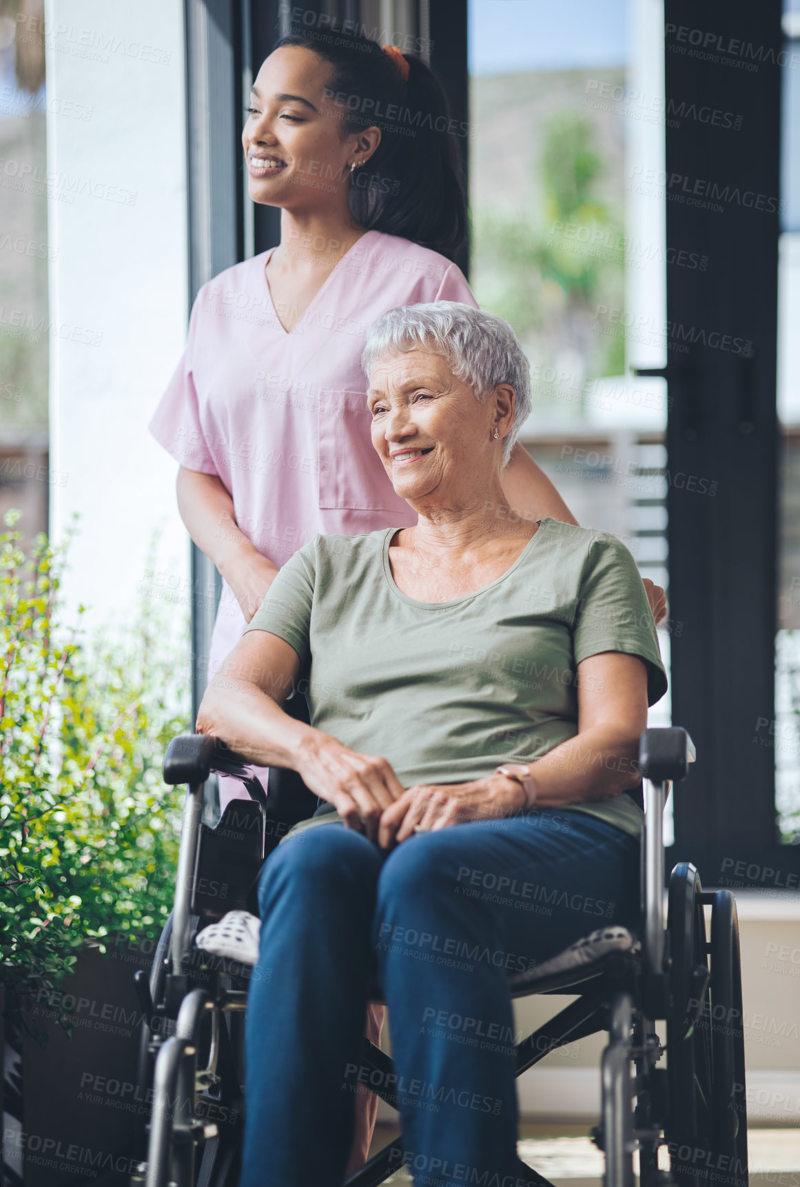
[[[534,368],[578,388],[624,367],[622,338],[598,334],[596,317],[624,299],[622,120],[610,101],[591,106],[607,84],[624,85],[624,69],[470,81],[472,288]],[[534,382],[534,404],[547,399]]]

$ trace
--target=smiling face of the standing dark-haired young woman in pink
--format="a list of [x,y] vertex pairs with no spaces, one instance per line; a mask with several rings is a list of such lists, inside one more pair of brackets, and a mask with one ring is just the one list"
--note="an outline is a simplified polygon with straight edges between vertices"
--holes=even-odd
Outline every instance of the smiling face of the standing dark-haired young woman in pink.
[[334,68],[313,50],[284,45],[253,83],[242,147],[254,202],[286,209],[347,204],[350,163],[377,147],[380,131],[339,137],[343,110],[325,97]]

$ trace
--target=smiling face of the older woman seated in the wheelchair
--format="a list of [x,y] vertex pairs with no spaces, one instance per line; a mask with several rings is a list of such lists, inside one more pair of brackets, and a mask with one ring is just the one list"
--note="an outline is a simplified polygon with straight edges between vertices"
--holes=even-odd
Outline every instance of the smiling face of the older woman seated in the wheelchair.
[[[478,404],[443,355],[389,351],[372,369],[367,399],[373,446],[395,493],[412,506],[466,506],[499,480],[502,437],[514,410],[508,385]],[[499,415],[503,410],[506,415]]]

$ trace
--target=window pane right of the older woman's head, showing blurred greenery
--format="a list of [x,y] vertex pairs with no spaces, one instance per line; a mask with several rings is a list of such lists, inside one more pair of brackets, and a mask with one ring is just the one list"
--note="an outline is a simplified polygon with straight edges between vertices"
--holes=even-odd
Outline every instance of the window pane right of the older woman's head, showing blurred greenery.
[[667,385],[633,374],[666,362],[664,198],[639,184],[664,161],[661,8],[472,0],[469,38],[471,284],[531,362],[520,439],[668,594]]

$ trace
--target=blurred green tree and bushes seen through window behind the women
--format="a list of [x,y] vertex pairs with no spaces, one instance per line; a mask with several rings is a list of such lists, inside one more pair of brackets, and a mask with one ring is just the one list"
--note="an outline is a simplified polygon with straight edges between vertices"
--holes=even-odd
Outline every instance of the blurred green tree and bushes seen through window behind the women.
[[[595,196],[603,170],[591,123],[561,112],[538,165],[542,209],[478,208],[472,221],[482,304],[510,323],[532,362],[546,369],[578,356],[583,379],[624,372],[624,337],[598,332],[596,315],[601,303],[624,303],[622,217]],[[538,395],[534,382],[534,404]]]

